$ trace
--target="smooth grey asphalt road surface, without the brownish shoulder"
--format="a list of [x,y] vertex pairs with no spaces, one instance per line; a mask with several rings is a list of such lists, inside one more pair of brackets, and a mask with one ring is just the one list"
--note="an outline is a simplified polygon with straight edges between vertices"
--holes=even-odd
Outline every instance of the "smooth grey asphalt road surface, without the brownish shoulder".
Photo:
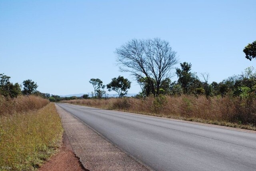
[[256,134],[58,104],[154,170],[256,171]]

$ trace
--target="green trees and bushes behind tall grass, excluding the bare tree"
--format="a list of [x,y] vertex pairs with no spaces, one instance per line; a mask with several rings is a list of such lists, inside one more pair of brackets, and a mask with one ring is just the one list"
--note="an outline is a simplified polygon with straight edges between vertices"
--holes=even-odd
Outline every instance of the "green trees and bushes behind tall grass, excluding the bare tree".
[[[240,97],[256,97],[256,72],[253,67],[246,68],[240,75],[234,75],[222,82],[209,83],[209,74],[202,73],[200,77],[191,72],[192,65],[187,62],[180,63],[181,68],[176,68],[178,81],[171,82],[170,78],[163,80],[160,94],[166,95],[206,95],[221,96],[231,95]],[[147,78],[138,79],[142,91],[141,97],[153,95]],[[155,85],[156,87],[156,82]]]

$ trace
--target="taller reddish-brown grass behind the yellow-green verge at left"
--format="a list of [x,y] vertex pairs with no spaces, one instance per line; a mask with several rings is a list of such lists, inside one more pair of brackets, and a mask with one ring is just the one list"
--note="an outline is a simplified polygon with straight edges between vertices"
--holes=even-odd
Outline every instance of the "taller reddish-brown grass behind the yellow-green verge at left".
[[38,96],[18,96],[11,99],[0,95],[0,115],[10,115],[40,109],[50,103],[48,99]]

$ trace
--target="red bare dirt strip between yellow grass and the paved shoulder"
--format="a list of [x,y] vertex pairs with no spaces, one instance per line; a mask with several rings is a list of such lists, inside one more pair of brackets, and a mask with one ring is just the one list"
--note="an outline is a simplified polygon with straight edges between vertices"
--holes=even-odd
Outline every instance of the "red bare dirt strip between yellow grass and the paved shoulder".
[[44,163],[39,171],[88,171],[84,169],[78,157],[73,153],[66,133],[63,134],[63,143],[59,152]]

